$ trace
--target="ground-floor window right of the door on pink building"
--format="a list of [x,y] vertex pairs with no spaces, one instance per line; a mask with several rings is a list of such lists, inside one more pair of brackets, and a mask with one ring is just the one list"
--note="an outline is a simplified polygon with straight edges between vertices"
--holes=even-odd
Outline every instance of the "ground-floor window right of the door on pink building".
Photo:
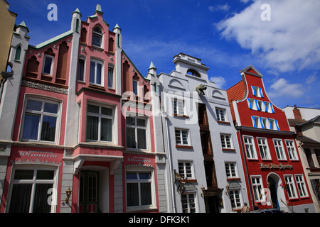
[[151,208],[153,205],[152,172],[126,172],[127,207]]

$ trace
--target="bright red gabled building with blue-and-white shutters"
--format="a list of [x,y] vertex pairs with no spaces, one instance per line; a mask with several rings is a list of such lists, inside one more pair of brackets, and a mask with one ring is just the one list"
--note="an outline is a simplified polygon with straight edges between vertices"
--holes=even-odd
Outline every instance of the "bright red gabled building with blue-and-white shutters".
[[267,96],[262,74],[248,66],[242,81],[227,90],[233,122],[238,130],[247,192],[254,204],[286,212],[315,212],[302,157],[297,152],[282,109]]

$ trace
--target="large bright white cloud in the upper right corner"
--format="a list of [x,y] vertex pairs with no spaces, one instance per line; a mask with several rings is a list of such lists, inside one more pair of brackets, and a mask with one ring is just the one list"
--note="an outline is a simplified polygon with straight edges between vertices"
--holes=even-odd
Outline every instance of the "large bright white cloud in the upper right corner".
[[319,67],[320,1],[270,0],[271,21],[262,21],[262,4],[264,0],[253,1],[216,28],[223,38],[251,50],[267,67],[281,72]]

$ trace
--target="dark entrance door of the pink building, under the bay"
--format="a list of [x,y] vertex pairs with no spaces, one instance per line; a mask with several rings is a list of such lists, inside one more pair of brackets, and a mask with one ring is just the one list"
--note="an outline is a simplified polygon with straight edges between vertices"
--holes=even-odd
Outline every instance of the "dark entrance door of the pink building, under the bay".
[[99,172],[81,171],[79,187],[79,212],[99,211]]

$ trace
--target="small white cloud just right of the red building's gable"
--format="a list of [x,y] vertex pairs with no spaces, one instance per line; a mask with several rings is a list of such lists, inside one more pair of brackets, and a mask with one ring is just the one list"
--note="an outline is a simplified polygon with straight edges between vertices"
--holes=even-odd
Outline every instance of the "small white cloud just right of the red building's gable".
[[268,96],[274,97],[290,97],[297,99],[304,95],[302,84],[289,84],[286,79],[280,78],[270,86]]

